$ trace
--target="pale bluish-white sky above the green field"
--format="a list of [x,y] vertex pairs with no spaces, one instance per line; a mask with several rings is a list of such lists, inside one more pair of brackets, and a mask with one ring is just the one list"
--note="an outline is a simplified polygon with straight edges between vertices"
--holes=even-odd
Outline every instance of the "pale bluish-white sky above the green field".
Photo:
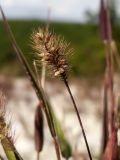
[[97,12],[99,0],[1,0],[8,18],[41,18],[51,9],[51,19],[84,21],[86,10]]

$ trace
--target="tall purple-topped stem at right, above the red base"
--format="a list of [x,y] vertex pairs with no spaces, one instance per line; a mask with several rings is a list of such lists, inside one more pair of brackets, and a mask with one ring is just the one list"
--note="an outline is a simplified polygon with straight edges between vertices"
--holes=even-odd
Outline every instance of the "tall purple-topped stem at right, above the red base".
[[[106,2],[106,3],[105,3]],[[108,70],[109,93],[110,93],[110,134],[114,131],[114,110],[115,110],[115,96],[114,96],[114,65],[113,65],[113,50],[111,48],[112,42],[112,28],[110,20],[110,10],[108,1],[101,0],[100,8],[100,28],[101,36],[106,50],[106,69]]]

